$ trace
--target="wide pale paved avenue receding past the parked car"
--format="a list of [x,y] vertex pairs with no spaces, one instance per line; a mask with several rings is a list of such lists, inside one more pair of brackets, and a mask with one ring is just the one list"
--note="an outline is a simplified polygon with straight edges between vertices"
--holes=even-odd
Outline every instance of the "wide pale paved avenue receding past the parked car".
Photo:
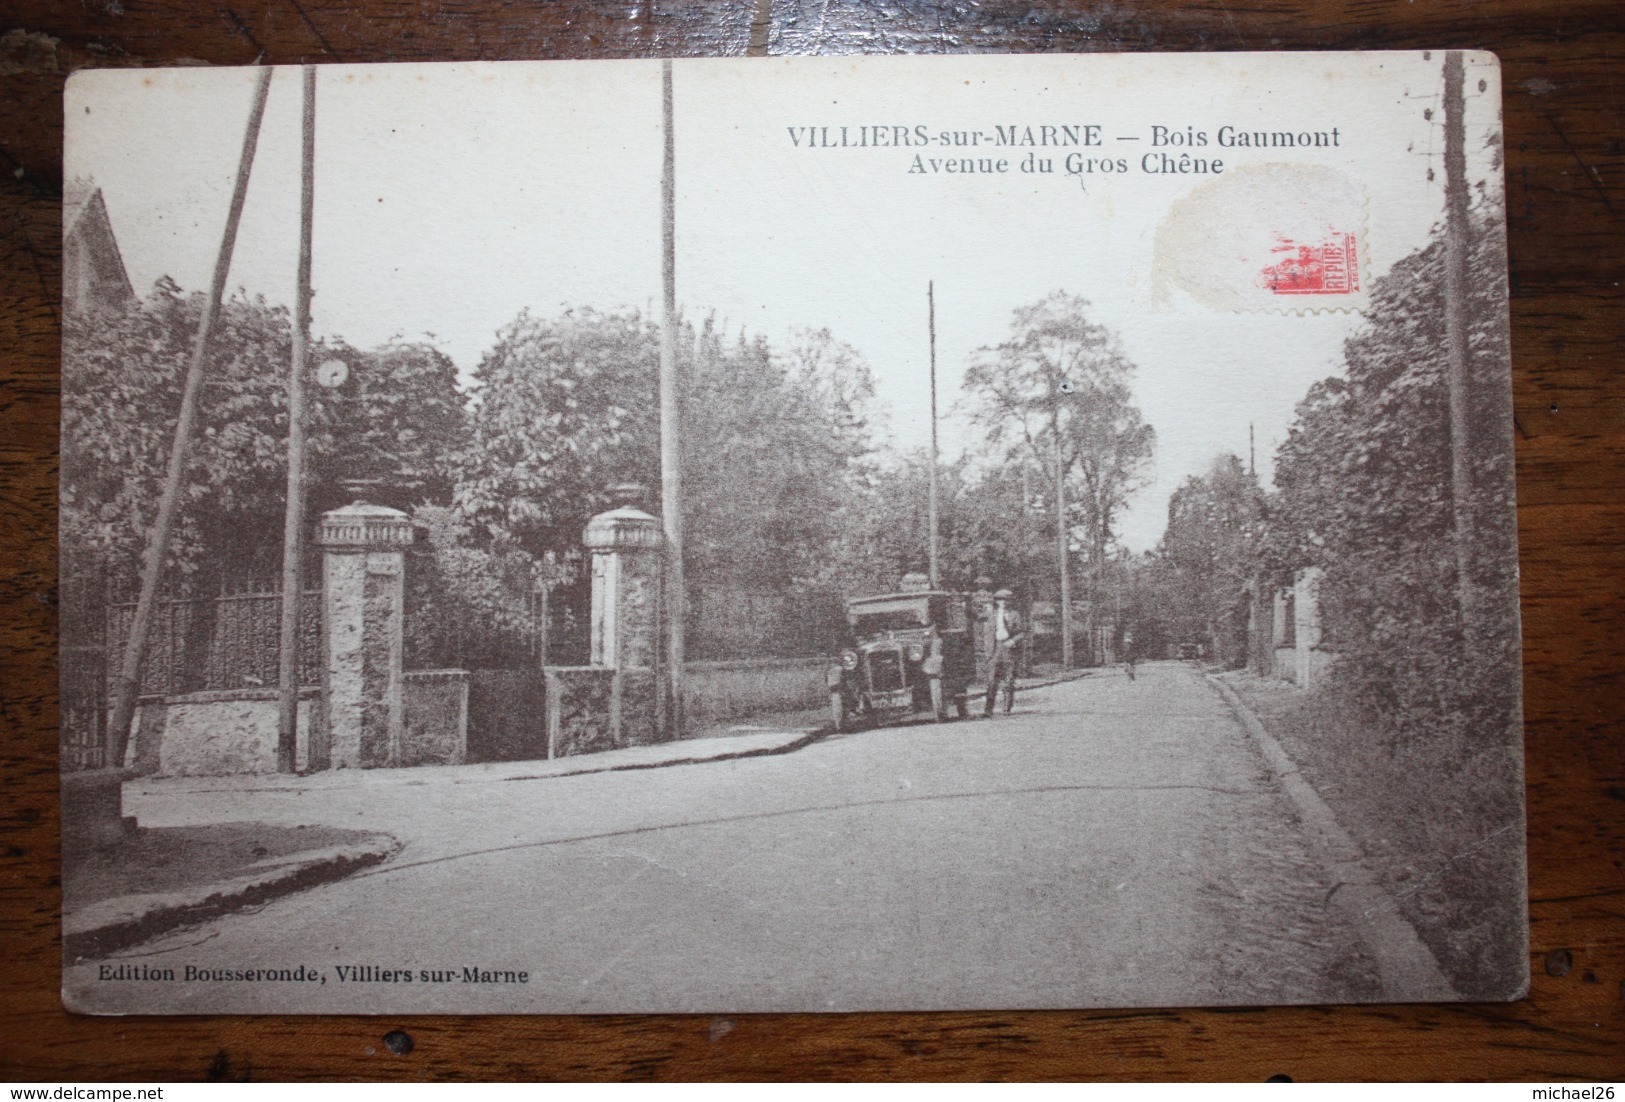
[[110,985],[88,962],[67,970],[70,998],[743,1013],[1381,996],[1376,951],[1331,902],[1292,801],[1219,692],[1178,663],[1034,691],[1008,718],[770,757],[458,785],[422,774],[143,796],[148,826],[328,822],[405,847],[122,954],[176,974],[306,965],[318,982]]

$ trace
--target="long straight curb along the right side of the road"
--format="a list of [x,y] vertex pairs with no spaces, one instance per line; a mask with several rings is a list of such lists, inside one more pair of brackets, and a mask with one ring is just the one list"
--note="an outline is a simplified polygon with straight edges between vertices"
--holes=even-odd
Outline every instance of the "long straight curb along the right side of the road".
[[1337,816],[1332,814],[1320,793],[1303,779],[1297,762],[1264,728],[1253,709],[1242,702],[1235,689],[1211,673],[1204,673],[1204,676],[1230,705],[1235,717],[1242,720],[1242,727],[1253,736],[1253,741],[1258,743],[1264,762],[1308,827],[1310,839],[1321,852],[1321,860],[1334,884],[1328,899],[1360,928],[1367,944],[1375,951],[1384,1000],[1459,1000],[1461,995],[1445,977],[1433,951],[1399,910],[1399,904],[1383,887],[1376,873],[1365,865],[1360,847],[1339,826]]

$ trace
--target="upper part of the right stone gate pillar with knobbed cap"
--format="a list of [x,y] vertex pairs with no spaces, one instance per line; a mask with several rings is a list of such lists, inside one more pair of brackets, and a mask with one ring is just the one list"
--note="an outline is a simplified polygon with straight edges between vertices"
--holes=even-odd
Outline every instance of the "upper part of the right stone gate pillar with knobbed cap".
[[632,504],[639,488],[618,486],[618,509],[587,522],[593,556],[593,665],[650,670],[660,650],[660,520]]

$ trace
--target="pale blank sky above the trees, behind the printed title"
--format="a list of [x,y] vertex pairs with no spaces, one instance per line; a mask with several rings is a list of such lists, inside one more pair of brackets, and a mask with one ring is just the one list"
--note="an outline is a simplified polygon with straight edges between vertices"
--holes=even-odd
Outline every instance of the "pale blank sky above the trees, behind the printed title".
[[[1245,458],[1250,426],[1269,481],[1294,406],[1339,371],[1342,341],[1362,323],[1360,296],[1259,289],[1280,239],[1354,234],[1368,288],[1441,216],[1440,63],[1438,54],[679,60],[678,301],[775,346],[829,328],[874,369],[889,444],[912,450],[930,442],[933,283],[952,458],[980,445],[960,400],[975,349],[1006,340],[1020,306],[1063,289],[1086,297],[1136,364],[1134,400],[1157,432],[1147,486],[1120,523],[1128,548],[1147,549],[1172,491],[1224,452]],[[466,375],[523,309],[658,310],[660,80],[658,62],[322,67],[314,333],[359,346],[429,338]],[[164,275],[208,284],[254,81],[254,70],[202,67],[70,80],[65,172],[102,189],[136,289]],[[1469,135],[1497,125],[1490,55],[1469,55],[1467,99]],[[996,145],[999,127],[1017,140],[1030,127],[1040,141],[1046,125],[1058,140],[1097,145]],[[1220,148],[1227,125],[1336,128],[1337,143]],[[897,145],[921,137],[931,145]],[[1022,172],[1029,153],[1055,171]],[[1068,174],[1068,154],[1128,171]],[[1225,167],[1142,171],[1142,158],[1162,154]],[[1006,164],[942,171],[960,158]],[[1487,158],[1476,151],[1471,171],[1485,176]],[[292,301],[297,203],[299,75],[280,68],[229,288]]]

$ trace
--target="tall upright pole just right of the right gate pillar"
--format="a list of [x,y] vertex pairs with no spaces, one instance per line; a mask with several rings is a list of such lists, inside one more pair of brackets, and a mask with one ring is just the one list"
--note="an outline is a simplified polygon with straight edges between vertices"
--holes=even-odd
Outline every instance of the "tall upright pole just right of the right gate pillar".
[[660,510],[666,527],[666,735],[682,736],[682,440],[678,436],[678,229],[676,143],[671,133],[671,62],[661,62],[665,159],[660,174]]

